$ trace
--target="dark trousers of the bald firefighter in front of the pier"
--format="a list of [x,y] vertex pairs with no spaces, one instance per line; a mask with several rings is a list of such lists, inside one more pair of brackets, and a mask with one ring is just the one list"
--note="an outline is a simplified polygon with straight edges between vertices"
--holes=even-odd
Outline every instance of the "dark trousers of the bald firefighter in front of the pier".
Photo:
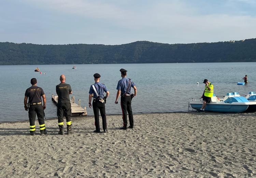
[[66,122],[71,121],[71,103],[58,103],[57,104],[57,116],[59,125],[63,125],[63,116],[66,117]]

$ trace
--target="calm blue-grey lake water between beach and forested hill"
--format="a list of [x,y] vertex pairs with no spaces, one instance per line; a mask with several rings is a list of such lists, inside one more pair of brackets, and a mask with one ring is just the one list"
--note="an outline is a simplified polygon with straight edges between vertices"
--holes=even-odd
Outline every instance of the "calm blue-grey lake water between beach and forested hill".
[[[200,97],[204,90],[203,79],[209,79],[218,96],[228,92],[246,95],[256,91],[256,63],[172,63],[172,64],[83,64],[76,65],[17,65],[0,66],[0,122],[28,119],[24,110],[24,94],[30,87],[30,79],[37,78],[38,86],[46,95],[46,118],[57,117],[56,106],[52,103],[52,94],[60,83],[59,76],[66,76],[66,83],[72,87],[76,103],[81,99],[81,106],[87,107],[88,115],[93,109],[88,108],[88,92],[94,83],[93,74],[99,73],[110,96],[106,103],[107,114],[121,114],[120,102],[115,104],[116,85],[121,79],[119,69],[128,70],[137,86],[138,94],[132,100],[133,113],[186,112],[188,98]],[[39,67],[44,74],[34,72]],[[248,75],[248,84],[242,78]],[[197,84],[199,82],[199,84]],[[133,91],[133,90],[132,90]],[[71,98],[70,96],[70,98]]]

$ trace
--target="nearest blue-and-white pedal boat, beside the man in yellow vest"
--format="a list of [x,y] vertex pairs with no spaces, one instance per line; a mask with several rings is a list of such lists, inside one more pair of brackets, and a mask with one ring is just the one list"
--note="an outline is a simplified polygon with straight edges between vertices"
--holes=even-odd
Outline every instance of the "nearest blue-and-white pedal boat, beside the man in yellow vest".
[[[189,108],[192,107],[195,110],[199,110],[202,108],[202,104],[202,98],[189,98]],[[254,105],[254,103],[249,102],[240,95],[234,96],[233,93],[227,93],[223,99],[218,100],[213,94],[210,103],[207,103],[204,110],[220,113],[241,113],[246,111],[250,105]]]

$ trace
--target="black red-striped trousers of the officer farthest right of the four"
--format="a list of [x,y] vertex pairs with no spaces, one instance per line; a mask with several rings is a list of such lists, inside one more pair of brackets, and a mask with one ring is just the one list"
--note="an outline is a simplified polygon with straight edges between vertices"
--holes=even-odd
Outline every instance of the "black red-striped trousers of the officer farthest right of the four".
[[133,115],[131,110],[131,96],[121,96],[121,108],[123,112],[124,127],[127,127],[127,112],[130,126],[133,127]]

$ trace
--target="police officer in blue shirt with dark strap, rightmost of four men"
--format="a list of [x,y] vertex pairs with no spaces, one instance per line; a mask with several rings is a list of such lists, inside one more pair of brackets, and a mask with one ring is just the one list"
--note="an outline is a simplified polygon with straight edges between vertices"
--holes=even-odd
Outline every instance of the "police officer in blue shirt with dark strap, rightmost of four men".
[[[127,111],[129,116],[129,128],[133,129],[133,115],[132,115],[132,109],[131,109],[131,99],[136,96],[137,88],[135,84],[131,81],[131,79],[126,78],[127,70],[120,69],[121,77],[122,79],[118,81],[116,90],[116,100],[115,103],[117,104],[117,99],[121,94],[121,108],[123,112],[123,122],[124,125],[120,129],[126,130],[127,129]],[[134,89],[134,94],[131,93],[131,87]]]

